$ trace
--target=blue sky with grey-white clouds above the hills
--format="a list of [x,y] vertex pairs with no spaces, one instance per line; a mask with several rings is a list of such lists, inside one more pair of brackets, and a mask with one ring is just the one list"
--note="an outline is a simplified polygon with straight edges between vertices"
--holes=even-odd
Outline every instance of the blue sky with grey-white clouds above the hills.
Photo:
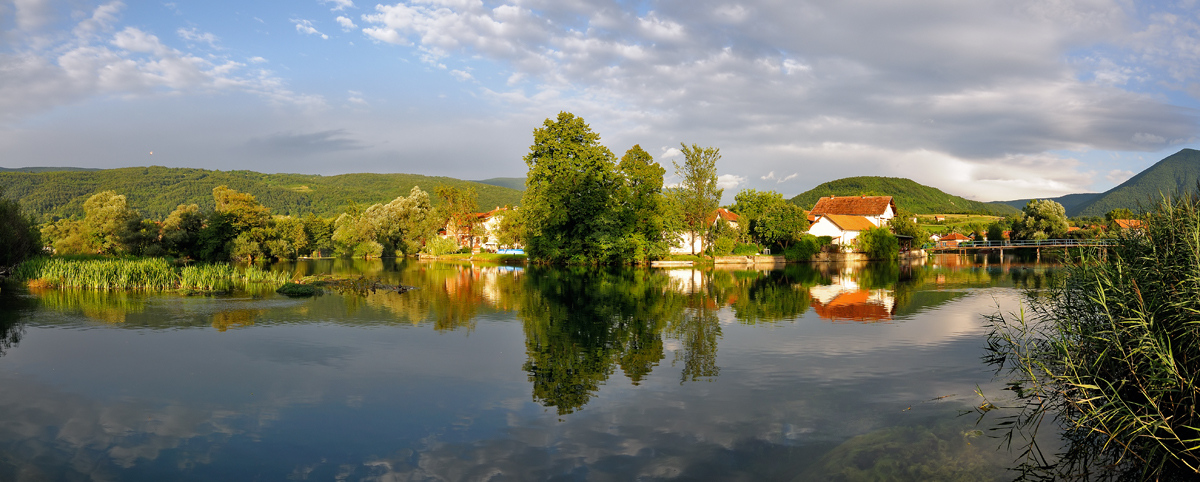
[[1200,149],[1200,1],[0,0],[0,167],[521,177],[583,118],[725,201],[1106,191]]

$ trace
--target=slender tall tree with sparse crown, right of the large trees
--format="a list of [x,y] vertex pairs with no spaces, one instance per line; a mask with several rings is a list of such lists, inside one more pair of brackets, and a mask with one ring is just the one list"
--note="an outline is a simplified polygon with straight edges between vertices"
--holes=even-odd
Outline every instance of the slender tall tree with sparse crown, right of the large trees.
[[[691,239],[704,235],[706,243],[709,242],[709,215],[713,213],[720,203],[725,189],[716,187],[716,161],[721,158],[721,150],[716,147],[701,147],[692,144],[683,147],[684,163],[672,161],[676,175],[679,176],[679,187],[673,189],[674,199],[683,215],[684,228],[691,234]],[[696,245],[691,243],[691,254],[696,254]]]

